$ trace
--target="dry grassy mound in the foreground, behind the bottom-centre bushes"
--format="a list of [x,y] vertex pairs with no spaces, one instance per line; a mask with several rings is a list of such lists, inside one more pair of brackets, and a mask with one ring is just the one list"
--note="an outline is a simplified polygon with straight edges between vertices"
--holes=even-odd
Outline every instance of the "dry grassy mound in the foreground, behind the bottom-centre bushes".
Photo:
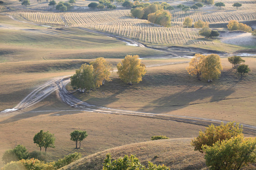
[[113,159],[125,154],[135,154],[143,164],[152,161],[170,166],[172,170],[205,169],[203,154],[194,151],[190,141],[191,138],[176,138],[119,146],[84,157],[60,170],[101,170],[107,153]]

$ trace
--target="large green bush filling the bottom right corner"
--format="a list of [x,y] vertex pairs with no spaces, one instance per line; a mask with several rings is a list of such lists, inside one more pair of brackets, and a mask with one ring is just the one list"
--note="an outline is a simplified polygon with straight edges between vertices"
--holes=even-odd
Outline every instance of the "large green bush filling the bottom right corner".
[[203,152],[210,170],[240,170],[248,163],[256,162],[256,138],[234,136],[217,141],[213,146],[204,145]]

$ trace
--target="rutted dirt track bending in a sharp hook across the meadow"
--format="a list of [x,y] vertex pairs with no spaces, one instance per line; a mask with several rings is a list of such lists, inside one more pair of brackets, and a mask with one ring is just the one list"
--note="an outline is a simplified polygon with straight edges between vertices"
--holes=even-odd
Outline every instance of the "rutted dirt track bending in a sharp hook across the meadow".
[[[130,111],[130,110],[119,110],[119,109],[111,109],[101,106],[96,106],[89,104],[87,102],[82,102],[73,96],[73,94],[69,93],[65,86],[70,82],[69,76],[66,77],[58,77],[44,85],[41,85],[33,92],[29,93],[27,97],[25,97],[16,107],[10,110],[4,110],[1,113],[7,113],[15,110],[22,110],[27,107],[30,107],[37,102],[40,102],[44,98],[46,98],[50,93],[58,91],[59,98],[65,102],[67,105],[73,107],[75,110],[84,110],[90,112],[99,112],[104,114],[121,114],[121,115],[129,115],[129,116],[138,116],[138,117],[146,117],[151,119],[163,119],[170,120],[188,124],[194,124],[199,126],[207,127],[210,124],[219,125],[222,121],[216,119],[205,119],[205,118],[196,118],[189,116],[177,116],[177,115],[169,115],[169,114],[157,114],[157,113],[148,113],[148,112],[140,112],[140,111]],[[39,110],[41,111],[41,110]],[[42,111],[51,111],[51,110],[42,110]],[[55,110],[53,110],[55,111]],[[33,111],[31,111],[33,112]],[[35,111],[35,112],[38,112]],[[223,121],[227,123],[227,121]],[[249,135],[256,136],[256,126],[242,124],[244,133]]]

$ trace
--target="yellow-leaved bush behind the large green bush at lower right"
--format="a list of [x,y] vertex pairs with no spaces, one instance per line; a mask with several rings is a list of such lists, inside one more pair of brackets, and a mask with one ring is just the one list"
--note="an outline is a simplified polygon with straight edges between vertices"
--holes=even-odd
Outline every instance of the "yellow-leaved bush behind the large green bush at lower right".
[[192,139],[191,145],[194,146],[195,151],[203,153],[203,145],[213,146],[217,141],[222,142],[223,140],[242,134],[243,126],[239,126],[239,123],[234,126],[234,123],[235,122],[229,122],[224,125],[224,123],[221,122],[220,126],[211,124],[209,127],[205,128],[204,132],[200,131],[197,138]]

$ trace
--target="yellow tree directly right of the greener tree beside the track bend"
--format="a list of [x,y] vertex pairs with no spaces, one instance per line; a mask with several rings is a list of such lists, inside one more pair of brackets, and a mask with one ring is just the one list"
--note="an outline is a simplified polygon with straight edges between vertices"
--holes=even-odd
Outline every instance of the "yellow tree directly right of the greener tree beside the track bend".
[[109,62],[103,57],[97,58],[90,63],[93,66],[93,74],[96,87],[100,87],[105,84],[106,81],[110,81],[110,71],[112,70]]

